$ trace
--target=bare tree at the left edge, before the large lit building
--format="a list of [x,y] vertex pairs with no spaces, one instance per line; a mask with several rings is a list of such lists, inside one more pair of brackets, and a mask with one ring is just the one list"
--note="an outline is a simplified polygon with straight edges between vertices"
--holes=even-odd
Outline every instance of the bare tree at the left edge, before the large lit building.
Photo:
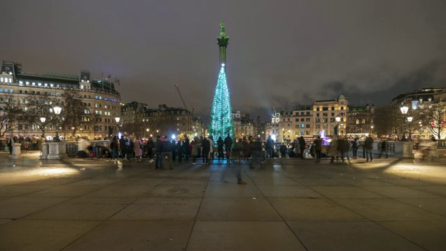
[[11,93],[0,94],[0,137],[20,127],[22,114]]

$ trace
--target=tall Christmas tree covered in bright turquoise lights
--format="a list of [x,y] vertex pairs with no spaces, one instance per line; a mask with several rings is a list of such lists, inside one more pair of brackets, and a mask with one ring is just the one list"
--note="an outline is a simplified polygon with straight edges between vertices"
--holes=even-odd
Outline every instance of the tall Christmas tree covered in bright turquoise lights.
[[222,63],[210,112],[210,135],[213,135],[215,142],[217,141],[218,137],[222,137],[222,139],[224,139],[228,133],[231,135],[231,137],[233,137],[234,127],[231,112],[231,98],[229,98],[226,73],[224,70],[224,63]]

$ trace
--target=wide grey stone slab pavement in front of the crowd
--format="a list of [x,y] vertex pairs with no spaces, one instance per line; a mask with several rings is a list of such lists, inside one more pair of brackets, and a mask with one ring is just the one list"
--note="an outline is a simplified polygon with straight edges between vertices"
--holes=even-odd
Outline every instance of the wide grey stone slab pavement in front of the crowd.
[[445,162],[153,167],[1,153],[0,250],[446,250]]

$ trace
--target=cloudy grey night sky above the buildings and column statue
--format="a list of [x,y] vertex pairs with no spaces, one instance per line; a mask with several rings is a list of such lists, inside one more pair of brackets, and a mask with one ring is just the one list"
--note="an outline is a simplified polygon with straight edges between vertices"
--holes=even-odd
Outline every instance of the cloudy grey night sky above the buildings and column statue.
[[272,107],[348,96],[385,105],[446,87],[446,1],[4,1],[0,59],[24,72],[112,75],[122,102],[183,107],[208,122],[229,36],[234,111],[269,121]]

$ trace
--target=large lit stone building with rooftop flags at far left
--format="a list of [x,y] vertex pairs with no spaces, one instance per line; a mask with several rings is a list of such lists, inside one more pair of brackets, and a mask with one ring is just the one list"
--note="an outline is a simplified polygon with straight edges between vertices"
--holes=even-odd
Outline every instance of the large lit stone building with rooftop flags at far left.
[[[117,131],[114,118],[121,116],[121,94],[115,89],[115,83],[103,79],[93,79],[89,70],[82,70],[79,75],[63,75],[56,73],[44,73],[38,75],[36,73],[26,73],[22,70],[20,63],[11,61],[3,61],[1,63],[0,75],[0,95],[8,96],[16,107],[22,109],[25,114],[29,102],[37,100],[39,97],[45,97],[49,102],[47,105],[59,104],[62,107],[61,117],[59,121],[63,125],[70,125],[68,114],[70,111],[64,110],[64,100],[70,95],[80,107],[77,114],[86,121],[80,119],[79,123],[72,123],[72,126],[59,128],[62,136],[66,138],[72,136],[88,136],[90,138],[108,137],[111,132]],[[51,101],[48,101],[51,100]],[[34,101],[33,101],[34,102]],[[3,103],[4,106],[4,103]],[[1,107],[0,107],[1,108]],[[6,112],[1,109],[0,112]],[[24,122],[25,119],[17,119],[15,121],[3,121],[3,132],[7,136],[29,136],[40,135],[45,130],[47,135],[55,135],[56,124],[54,123],[54,114],[47,111],[41,116],[47,121]],[[94,116],[91,116],[93,114]],[[26,116],[26,115],[25,115]],[[90,121],[94,119],[94,121]],[[88,121],[87,121],[88,120]],[[76,126],[77,125],[77,126]],[[11,130],[9,130],[11,129]]]

